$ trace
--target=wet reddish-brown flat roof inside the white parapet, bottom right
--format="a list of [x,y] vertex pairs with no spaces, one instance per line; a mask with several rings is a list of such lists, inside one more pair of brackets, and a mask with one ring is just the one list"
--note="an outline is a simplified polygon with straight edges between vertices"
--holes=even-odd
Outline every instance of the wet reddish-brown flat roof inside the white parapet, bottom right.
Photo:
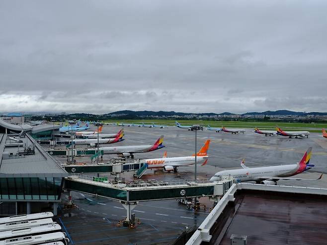
[[236,213],[221,242],[246,235],[250,245],[326,244],[326,199],[308,199],[266,194],[237,197]]

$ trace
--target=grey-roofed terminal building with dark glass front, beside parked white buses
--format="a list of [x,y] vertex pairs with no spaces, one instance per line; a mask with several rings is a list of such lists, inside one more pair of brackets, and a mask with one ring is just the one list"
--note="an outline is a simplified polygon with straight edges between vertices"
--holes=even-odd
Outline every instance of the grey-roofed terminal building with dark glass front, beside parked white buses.
[[29,214],[50,206],[56,214],[66,176],[28,133],[0,134],[0,214]]

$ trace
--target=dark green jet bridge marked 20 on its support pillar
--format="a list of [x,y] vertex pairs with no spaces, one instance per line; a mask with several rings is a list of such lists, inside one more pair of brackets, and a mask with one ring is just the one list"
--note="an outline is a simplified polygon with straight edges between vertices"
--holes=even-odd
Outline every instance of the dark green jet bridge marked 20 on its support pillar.
[[138,202],[202,196],[219,201],[234,181],[234,178],[226,176],[216,182],[210,182],[208,179],[124,182],[108,180],[107,177],[72,174],[65,178],[64,189],[119,201],[127,211],[125,222],[128,226],[134,226],[134,215],[131,211]]

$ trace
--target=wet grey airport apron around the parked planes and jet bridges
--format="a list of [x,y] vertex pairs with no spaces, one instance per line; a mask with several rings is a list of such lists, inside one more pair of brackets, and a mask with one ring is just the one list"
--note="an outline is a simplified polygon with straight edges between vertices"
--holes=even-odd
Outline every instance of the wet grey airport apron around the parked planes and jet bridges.
[[[103,127],[102,133],[116,133],[121,128],[106,125]],[[123,128],[125,140],[114,144],[115,146],[154,144],[160,135],[164,135],[164,149],[135,154],[135,158],[160,158],[164,151],[167,151],[168,157],[190,156],[194,153],[195,133],[192,131],[176,127],[164,129]],[[94,129],[95,127],[91,128],[91,130]],[[257,135],[250,130],[239,135],[204,130],[199,131],[197,135],[197,149],[200,149],[205,140],[211,140],[208,151],[209,161],[207,165],[197,167],[198,178],[210,178],[215,172],[222,169],[238,168],[243,158],[249,167],[297,163],[309,147],[313,148],[310,163],[327,166],[327,139],[323,138],[321,134],[312,133],[309,138],[290,139],[282,136]],[[103,160],[106,161],[112,157],[116,156],[105,155]],[[66,158],[58,159],[61,162],[66,160]],[[77,158],[77,161],[89,162],[90,159],[89,157],[81,157]],[[309,173],[301,174],[301,177],[316,178],[319,176],[318,172],[327,172],[327,168],[317,168],[317,172],[310,170]],[[122,174],[122,177],[131,180],[133,173]],[[142,179],[162,180],[180,178],[194,178],[194,166],[179,167],[177,173],[148,169],[142,177]],[[324,176],[320,181],[284,180],[279,181],[278,184],[327,188],[327,176]],[[73,192],[72,195],[79,209],[72,211],[72,217],[69,217],[65,211],[62,222],[73,243],[81,245],[169,244],[178,237],[185,227],[199,226],[211,207],[211,203],[206,199],[201,200],[202,203],[207,204],[206,210],[202,209],[198,213],[187,210],[185,205],[179,204],[176,200],[142,202],[134,209],[141,224],[131,230],[116,227],[118,221],[126,216],[120,203],[81,193]],[[67,200],[68,197],[64,195],[63,199]]]

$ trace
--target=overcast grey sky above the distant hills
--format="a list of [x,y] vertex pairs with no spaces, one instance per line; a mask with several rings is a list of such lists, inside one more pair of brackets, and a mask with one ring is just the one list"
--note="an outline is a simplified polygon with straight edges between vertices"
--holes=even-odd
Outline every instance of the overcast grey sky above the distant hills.
[[327,111],[326,0],[0,1],[0,111]]

